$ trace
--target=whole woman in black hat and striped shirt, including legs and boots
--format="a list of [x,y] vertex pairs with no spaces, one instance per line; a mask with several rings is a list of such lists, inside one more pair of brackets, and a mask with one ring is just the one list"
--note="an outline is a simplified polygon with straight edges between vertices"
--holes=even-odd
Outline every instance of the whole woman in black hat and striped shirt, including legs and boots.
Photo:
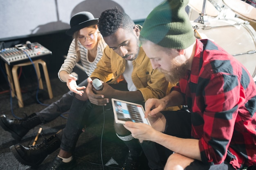
[[[98,19],[94,18],[90,12],[76,13],[70,20],[71,28],[66,33],[67,35],[73,36],[73,40],[70,44],[67,58],[64,60],[58,72],[58,77],[62,82],[66,82],[67,87],[70,89],[68,93],[47,108],[38,113],[33,113],[25,119],[13,121],[5,115],[1,116],[1,126],[4,130],[11,132],[15,139],[21,139],[31,128],[52,121],[69,110],[73,100],[73,92],[79,95],[83,94],[81,89],[87,85],[87,77],[79,84],[79,88],[76,84],[76,77],[71,73],[75,64],[81,61],[85,73],[90,76],[101,59],[106,43],[99,33],[97,23]],[[46,142],[36,146],[24,147],[21,144],[16,144],[10,148],[13,155],[22,164],[38,166],[47,155],[60,147],[61,134],[56,133],[47,139]]]

